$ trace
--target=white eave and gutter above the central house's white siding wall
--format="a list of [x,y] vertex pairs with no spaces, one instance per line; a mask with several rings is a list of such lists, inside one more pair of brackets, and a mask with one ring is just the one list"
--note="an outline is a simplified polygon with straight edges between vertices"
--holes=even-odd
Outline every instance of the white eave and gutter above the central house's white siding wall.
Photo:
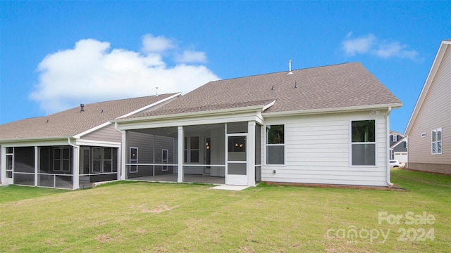
[[283,117],[292,115],[316,115],[316,114],[326,114],[333,112],[358,112],[363,110],[374,110],[374,109],[385,109],[392,108],[397,109],[402,106],[402,103],[390,103],[381,105],[360,105],[360,106],[350,106],[345,108],[321,108],[321,109],[311,109],[311,110],[295,110],[295,111],[282,111],[282,112],[263,112],[264,117]]

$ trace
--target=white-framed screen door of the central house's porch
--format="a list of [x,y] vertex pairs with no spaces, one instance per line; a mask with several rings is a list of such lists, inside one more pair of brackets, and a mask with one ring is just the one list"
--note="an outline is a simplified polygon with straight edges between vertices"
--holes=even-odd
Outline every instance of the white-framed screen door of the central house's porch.
[[227,136],[227,176],[226,184],[247,186],[247,134]]

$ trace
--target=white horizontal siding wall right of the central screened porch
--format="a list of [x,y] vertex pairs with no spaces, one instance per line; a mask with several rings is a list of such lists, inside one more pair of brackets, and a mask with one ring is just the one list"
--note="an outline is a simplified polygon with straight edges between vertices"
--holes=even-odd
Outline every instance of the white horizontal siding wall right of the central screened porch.
[[[264,165],[262,181],[387,186],[386,113],[265,119],[265,124],[285,124],[285,164]],[[376,119],[376,166],[350,166],[350,122],[365,119]],[[263,150],[264,138],[262,136]]]

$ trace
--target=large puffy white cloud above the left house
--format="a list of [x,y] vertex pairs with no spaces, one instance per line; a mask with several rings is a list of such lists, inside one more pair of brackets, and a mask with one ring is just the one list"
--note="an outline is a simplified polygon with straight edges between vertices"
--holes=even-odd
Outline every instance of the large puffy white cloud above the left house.
[[[144,37],[143,46],[149,46],[148,42]],[[173,44],[169,41],[165,45]],[[167,67],[156,53],[158,47],[153,48],[142,54],[110,50],[109,42],[80,40],[74,48],[51,53],[39,63],[39,80],[30,99],[45,112],[54,113],[80,103],[154,95],[155,87],[160,94],[187,93],[218,79],[204,65]]]

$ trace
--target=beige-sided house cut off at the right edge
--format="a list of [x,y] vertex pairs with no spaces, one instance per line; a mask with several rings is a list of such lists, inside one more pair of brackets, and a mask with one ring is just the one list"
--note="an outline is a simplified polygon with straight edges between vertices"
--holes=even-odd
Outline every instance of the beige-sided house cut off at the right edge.
[[408,169],[451,174],[451,40],[438,48],[404,135]]

